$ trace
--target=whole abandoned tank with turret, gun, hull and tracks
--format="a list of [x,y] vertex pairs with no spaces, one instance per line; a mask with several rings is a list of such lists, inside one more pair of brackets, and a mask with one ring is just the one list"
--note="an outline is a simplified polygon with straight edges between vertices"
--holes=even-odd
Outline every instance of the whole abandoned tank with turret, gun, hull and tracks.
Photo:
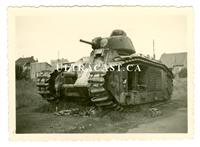
[[167,101],[172,95],[172,71],[155,59],[136,54],[123,30],[96,37],[89,57],[81,58],[37,79],[38,93],[49,102],[89,100],[103,109]]

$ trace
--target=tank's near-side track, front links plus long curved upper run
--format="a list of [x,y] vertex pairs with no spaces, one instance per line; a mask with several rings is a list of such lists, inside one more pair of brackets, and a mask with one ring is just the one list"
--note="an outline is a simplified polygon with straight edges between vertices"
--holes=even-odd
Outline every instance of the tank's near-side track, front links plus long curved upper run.
[[[172,73],[167,69],[165,65],[161,65],[160,63],[155,62],[155,61],[151,61],[151,60],[141,58],[141,57],[133,58],[133,56],[127,56],[118,60],[117,64],[121,64],[122,65],[121,67],[123,67],[123,65],[125,64],[133,64],[133,62],[137,62],[137,61],[164,69],[165,72],[170,76],[171,82],[172,82],[172,78],[173,78]],[[116,62],[110,63],[110,65],[115,67]],[[105,88],[106,74],[107,72],[103,71],[103,68],[99,69],[98,72],[92,71],[90,73],[88,82],[90,83],[89,93],[90,93],[90,96],[92,97],[91,101],[95,103],[95,105],[98,107],[123,111],[123,108],[117,102],[114,101],[114,98],[112,98],[112,96],[109,94],[109,92]],[[171,94],[169,95],[170,95],[169,97],[170,99]],[[152,102],[152,104],[153,103],[154,102]],[[140,105],[143,105],[143,104],[140,104]]]

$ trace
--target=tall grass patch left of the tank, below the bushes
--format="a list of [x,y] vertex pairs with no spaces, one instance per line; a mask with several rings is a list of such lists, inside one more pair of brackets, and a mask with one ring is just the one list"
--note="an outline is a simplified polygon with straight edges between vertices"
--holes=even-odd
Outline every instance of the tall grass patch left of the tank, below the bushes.
[[16,109],[23,107],[38,107],[47,104],[37,92],[36,83],[33,81],[16,81]]

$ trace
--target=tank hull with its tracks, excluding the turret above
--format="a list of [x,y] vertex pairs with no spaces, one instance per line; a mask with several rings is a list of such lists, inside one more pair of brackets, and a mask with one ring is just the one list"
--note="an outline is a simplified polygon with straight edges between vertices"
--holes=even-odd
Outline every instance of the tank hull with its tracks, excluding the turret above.
[[[39,77],[39,93],[50,102],[63,97],[71,100],[79,98],[87,99],[98,107],[118,110],[128,105],[167,101],[171,98],[173,74],[157,61],[135,54],[118,56],[107,64],[102,64],[102,58],[94,60],[78,62],[76,65],[86,66],[77,75],[72,74],[70,69],[63,69],[51,73],[49,79]],[[101,64],[94,68],[97,63]],[[40,81],[45,81],[45,90],[44,86],[41,89]]]

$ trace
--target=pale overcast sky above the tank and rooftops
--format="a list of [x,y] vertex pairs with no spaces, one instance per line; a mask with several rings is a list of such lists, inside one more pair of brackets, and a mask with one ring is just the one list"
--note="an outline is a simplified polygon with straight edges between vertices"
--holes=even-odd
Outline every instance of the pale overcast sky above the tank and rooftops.
[[169,14],[163,15],[149,14],[147,9],[140,14],[122,8],[68,8],[62,13],[56,13],[56,9],[45,11],[45,15],[44,9],[35,11],[15,17],[16,59],[34,56],[39,62],[50,62],[58,58],[59,51],[59,58],[76,61],[92,51],[90,45],[80,43],[79,39],[107,37],[114,29],[126,32],[137,53],[152,56],[153,40],[157,59],[164,52],[187,52],[187,17],[171,15],[170,9]]

